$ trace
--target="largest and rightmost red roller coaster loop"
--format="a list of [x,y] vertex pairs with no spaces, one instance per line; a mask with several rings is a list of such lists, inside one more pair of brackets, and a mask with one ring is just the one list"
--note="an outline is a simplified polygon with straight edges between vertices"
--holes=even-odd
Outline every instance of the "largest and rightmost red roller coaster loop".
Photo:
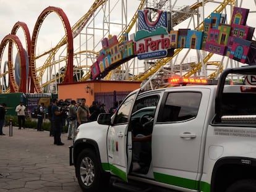
[[36,20],[35,28],[33,30],[32,34],[32,40],[31,40],[31,49],[30,49],[30,69],[31,69],[31,75],[32,79],[35,85],[35,91],[36,93],[41,93],[41,87],[38,82],[38,78],[36,77],[36,69],[35,69],[35,47],[36,47],[36,40],[38,38],[38,32],[40,30],[41,24],[43,23],[43,20],[45,20],[45,17],[47,17],[48,14],[51,12],[56,12],[56,14],[59,15],[66,32],[67,37],[67,65],[66,65],[66,71],[65,71],[65,77],[64,77],[64,83],[72,82],[73,81],[73,55],[74,55],[74,48],[73,48],[73,36],[72,36],[72,30],[70,27],[69,20],[67,19],[67,15],[64,13],[64,11],[61,8],[58,7],[47,7],[41,14],[39,15],[38,19]]

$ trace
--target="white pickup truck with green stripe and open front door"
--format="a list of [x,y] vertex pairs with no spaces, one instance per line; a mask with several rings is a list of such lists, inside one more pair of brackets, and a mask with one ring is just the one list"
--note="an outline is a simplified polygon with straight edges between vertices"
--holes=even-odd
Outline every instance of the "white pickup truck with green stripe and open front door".
[[82,190],[255,192],[256,86],[226,85],[231,74],[253,80],[256,67],[226,69],[218,85],[135,90],[80,125],[69,148]]

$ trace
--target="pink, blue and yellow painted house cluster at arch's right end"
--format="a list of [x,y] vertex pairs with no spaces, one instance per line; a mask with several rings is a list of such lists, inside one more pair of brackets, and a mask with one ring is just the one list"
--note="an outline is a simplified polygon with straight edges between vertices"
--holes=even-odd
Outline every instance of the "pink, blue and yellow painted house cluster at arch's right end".
[[[226,25],[226,15],[212,13],[210,20],[205,19],[203,48],[242,63],[249,63],[247,58],[254,28],[245,26],[249,9],[234,7],[231,25]],[[209,29],[210,27],[210,29]],[[206,37],[206,38],[205,38]]]

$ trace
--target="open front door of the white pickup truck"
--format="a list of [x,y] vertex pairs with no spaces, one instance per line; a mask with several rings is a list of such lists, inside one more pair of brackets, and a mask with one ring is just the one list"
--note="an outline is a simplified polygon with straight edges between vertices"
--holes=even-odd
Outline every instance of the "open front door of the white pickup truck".
[[132,159],[132,132],[128,132],[134,102],[140,90],[130,93],[113,115],[108,130],[108,162],[112,173],[127,182]]

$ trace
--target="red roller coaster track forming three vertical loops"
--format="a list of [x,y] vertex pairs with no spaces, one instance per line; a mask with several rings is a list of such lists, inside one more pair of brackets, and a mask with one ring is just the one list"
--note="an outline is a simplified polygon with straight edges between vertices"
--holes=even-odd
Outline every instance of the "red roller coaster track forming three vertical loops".
[[[73,56],[74,56],[74,48],[73,48],[73,36],[72,36],[72,29],[70,27],[69,20],[67,19],[67,15],[61,8],[58,7],[47,7],[41,14],[39,15],[38,19],[36,20],[35,27],[33,30],[32,38],[30,38],[30,32],[26,23],[24,22],[17,22],[15,23],[14,27],[12,28],[11,35],[7,35],[1,42],[0,51],[1,51],[1,58],[6,47],[7,43],[9,43],[8,48],[8,70],[9,70],[9,81],[10,81],[10,92],[23,92],[27,93],[26,85],[30,84],[30,93],[41,93],[41,87],[38,82],[38,78],[36,77],[36,67],[35,67],[35,50],[36,50],[36,40],[38,38],[38,32],[40,30],[41,24],[43,20],[47,17],[48,14],[51,12],[55,12],[59,15],[62,24],[64,25],[64,29],[66,32],[66,39],[67,39],[67,64],[66,64],[66,71],[64,77],[64,83],[72,82],[73,81]],[[28,77],[31,77],[31,83],[29,82],[29,78],[27,78],[26,74],[26,61],[25,61],[25,51],[23,49],[22,43],[19,40],[19,37],[16,36],[17,30],[22,28],[25,34],[25,41],[26,41],[26,48],[28,52],[28,61],[29,61],[29,72]],[[20,57],[20,68],[21,68],[21,75],[20,75],[20,85],[14,80],[14,69],[12,63],[12,46],[15,43]],[[27,84],[28,83],[28,84]],[[18,88],[19,86],[19,88]],[[1,93],[1,90],[0,90]]]

